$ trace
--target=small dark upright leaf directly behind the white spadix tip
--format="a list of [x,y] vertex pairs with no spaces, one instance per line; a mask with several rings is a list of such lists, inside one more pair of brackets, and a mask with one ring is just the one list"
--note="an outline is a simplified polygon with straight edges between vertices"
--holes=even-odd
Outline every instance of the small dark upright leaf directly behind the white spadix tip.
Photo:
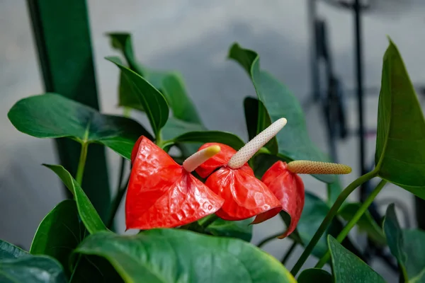
[[[246,97],[244,99],[244,112],[249,140],[254,139],[263,129],[271,125],[271,119],[266,108],[263,103],[256,98]],[[264,147],[266,147],[271,154],[278,154],[278,141],[276,137],[268,141]]]

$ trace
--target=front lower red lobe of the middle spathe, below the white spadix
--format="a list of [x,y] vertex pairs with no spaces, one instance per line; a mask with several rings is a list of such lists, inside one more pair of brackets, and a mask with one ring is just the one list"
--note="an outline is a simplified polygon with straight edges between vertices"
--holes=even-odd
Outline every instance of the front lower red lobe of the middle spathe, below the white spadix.
[[205,185],[225,199],[222,208],[215,213],[225,220],[247,219],[280,207],[268,187],[255,178],[254,173],[244,169],[220,168],[208,177]]

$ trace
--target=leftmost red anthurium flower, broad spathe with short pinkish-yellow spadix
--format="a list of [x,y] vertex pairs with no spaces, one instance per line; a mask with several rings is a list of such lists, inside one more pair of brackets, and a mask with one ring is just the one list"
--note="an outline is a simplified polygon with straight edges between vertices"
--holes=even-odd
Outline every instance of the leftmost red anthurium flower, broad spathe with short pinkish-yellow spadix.
[[131,156],[125,201],[127,229],[182,226],[220,209],[222,197],[191,174],[219,151],[219,146],[209,146],[181,166],[147,137],[140,137]]

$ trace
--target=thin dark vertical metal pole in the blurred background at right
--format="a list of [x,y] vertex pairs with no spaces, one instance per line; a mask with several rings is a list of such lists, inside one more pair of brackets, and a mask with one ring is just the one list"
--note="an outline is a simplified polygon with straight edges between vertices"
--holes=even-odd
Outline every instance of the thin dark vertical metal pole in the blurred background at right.
[[[364,120],[363,120],[363,66],[362,66],[362,34],[361,34],[361,5],[360,0],[354,2],[354,24],[355,24],[355,42],[356,42],[356,79],[357,79],[357,107],[358,107],[358,141],[360,151],[360,171],[361,175],[366,173],[365,166],[365,139],[364,139]],[[365,184],[361,186],[360,200],[365,200],[367,191]]]

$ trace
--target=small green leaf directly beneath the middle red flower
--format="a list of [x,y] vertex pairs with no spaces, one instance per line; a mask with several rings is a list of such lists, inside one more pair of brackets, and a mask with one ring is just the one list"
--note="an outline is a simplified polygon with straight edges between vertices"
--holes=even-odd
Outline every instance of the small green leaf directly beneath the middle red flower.
[[252,225],[253,218],[244,219],[241,221],[227,221],[217,219],[208,225],[207,231],[214,236],[223,236],[230,238],[239,238],[246,242],[250,242],[252,238]]

